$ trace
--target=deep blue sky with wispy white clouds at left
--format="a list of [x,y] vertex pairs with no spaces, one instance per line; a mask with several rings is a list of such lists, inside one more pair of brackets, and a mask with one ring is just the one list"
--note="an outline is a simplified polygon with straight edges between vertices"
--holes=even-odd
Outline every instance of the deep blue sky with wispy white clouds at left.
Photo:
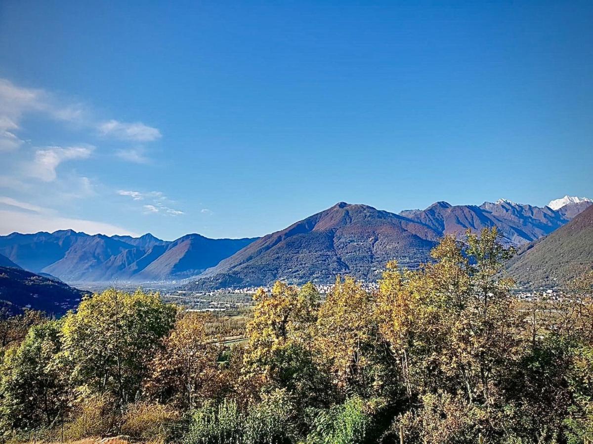
[[0,234],[593,197],[593,2],[0,0]]

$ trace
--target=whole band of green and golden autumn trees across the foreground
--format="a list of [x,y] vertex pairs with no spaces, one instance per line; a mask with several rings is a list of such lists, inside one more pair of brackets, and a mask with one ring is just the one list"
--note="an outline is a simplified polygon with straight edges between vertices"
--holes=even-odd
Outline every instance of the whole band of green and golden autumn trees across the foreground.
[[511,254],[492,229],[445,237],[415,271],[389,263],[377,291],[278,282],[233,346],[212,315],[142,291],[28,314],[26,333],[24,318],[2,326],[0,427],[188,444],[593,439],[593,276],[520,301],[501,274]]

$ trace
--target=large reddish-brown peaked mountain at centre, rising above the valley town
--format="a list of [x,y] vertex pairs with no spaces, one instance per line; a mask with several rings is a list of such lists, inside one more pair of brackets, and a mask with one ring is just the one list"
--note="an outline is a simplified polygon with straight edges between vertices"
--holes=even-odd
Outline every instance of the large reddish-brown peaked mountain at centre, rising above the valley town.
[[415,267],[428,259],[441,233],[368,205],[339,202],[284,230],[267,234],[198,276],[198,287],[330,282],[336,274],[374,280],[397,258]]

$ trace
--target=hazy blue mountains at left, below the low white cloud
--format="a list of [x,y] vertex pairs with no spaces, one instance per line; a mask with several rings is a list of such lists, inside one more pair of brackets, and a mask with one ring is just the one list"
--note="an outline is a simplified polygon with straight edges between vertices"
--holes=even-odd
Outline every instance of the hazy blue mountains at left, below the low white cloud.
[[133,238],[62,230],[0,236],[0,254],[28,271],[66,282],[148,282],[200,273],[250,242],[199,234],[167,242],[151,234]]

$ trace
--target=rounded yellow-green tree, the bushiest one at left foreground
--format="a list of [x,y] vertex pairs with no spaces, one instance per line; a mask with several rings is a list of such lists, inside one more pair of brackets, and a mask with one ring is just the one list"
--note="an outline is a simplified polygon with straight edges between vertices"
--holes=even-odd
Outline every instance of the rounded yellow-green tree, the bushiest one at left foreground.
[[110,288],[82,300],[63,325],[63,351],[79,392],[109,393],[121,411],[138,394],[175,316],[158,293],[141,290]]

